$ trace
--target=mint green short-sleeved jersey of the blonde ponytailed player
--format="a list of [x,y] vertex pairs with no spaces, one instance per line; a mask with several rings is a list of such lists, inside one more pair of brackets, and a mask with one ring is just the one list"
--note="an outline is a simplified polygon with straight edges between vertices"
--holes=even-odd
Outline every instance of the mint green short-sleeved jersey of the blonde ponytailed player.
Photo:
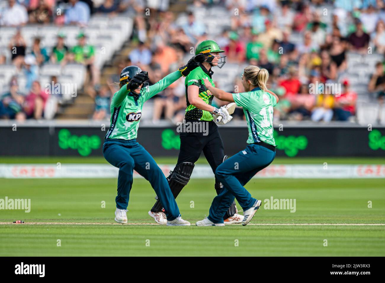
[[249,130],[248,144],[266,142],[275,146],[273,137],[273,107],[277,104],[274,95],[259,87],[249,92],[233,94],[234,102],[243,108]]

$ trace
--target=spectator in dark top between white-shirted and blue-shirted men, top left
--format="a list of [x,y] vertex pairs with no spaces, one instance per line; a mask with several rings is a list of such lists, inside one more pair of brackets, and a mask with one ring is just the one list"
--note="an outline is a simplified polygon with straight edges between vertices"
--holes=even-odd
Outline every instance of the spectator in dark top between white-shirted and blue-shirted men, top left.
[[[27,1],[25,1],[27,2]],[[30,0],[28,14],[30,23],[49,23],[55,0]]]

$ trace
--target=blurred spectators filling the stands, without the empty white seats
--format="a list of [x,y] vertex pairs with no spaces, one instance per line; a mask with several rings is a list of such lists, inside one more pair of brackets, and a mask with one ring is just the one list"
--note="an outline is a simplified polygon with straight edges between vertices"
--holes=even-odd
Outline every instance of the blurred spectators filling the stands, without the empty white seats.
[[[91,78],[84,86],[95,99],[95,112],[90,118],[108,119],[110,98],[117,91],[113,83],[119,81],[123,67],[132,64],[148,70],[149,83],[154,84],[183,65],[194,53],[194,46],[205,39],[216,40],[227,55],[223,69],[213,69],[213,80],[219,88],[242,92],[241,74],[246,65],[269,71],[268,87],[281,97],[275,109],[276,121],[353,122],[360,101],[382,105],[385,97],[383,0],[193,0],[187,1],[186,12],[179,14],[170,11],[169,7],[178,3],[172,1],[5,2],[7,5],[0,8],[2,27],[36,23],[87,27],[92,15],[119,14],[132,17],[134,28],[129,39],[131,50],[107,80],[100,79],[102,70],[95,67],[94,46],[87,43],[84,33],[78,34],[77,45],[72,47],[65,45],[66,35],[58,33],[57,43],[50,50],[39,38],[27,47],[21,33],[15,33],[7,50],[11,58],[0,53],[0,64],[11,63],[25,75],[27,92],[18,90],[16,76],[7,82],[7,92],[1,94],[3,118],[43,117],[47,103],[60,94],[42,89],[39,67],[46,62],[75,62],[86,66]],[[349,60],[350,54],[358,58],[356,65]],[[328,85],[335,88],[330,90]],[[154,122],[181,121],[186,107],[184,80],[152,100]],[[215,99],[213,103],[221,105]],[[55,109],[54,104],[49,105]],[[234,113],[234,119],[244,119],[241,109]]]

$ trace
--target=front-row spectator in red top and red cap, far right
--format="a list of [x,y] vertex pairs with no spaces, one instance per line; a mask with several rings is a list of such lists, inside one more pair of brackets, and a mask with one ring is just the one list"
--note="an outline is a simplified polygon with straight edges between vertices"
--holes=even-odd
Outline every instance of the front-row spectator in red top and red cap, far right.
[[338,121],[348,121],[355,115],[357,93],[350,90],[349,80],[343,81],[343,90],[334,100],[334,113]]

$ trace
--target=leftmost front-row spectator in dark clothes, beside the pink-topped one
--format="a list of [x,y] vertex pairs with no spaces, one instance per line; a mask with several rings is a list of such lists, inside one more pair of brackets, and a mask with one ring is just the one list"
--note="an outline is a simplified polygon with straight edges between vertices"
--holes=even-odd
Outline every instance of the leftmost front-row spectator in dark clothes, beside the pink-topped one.
[[0,118],[24,121],[23,103],[24,97],[18,92],[17,78],[12,77],[9,92],[3,94],[0,100]]

